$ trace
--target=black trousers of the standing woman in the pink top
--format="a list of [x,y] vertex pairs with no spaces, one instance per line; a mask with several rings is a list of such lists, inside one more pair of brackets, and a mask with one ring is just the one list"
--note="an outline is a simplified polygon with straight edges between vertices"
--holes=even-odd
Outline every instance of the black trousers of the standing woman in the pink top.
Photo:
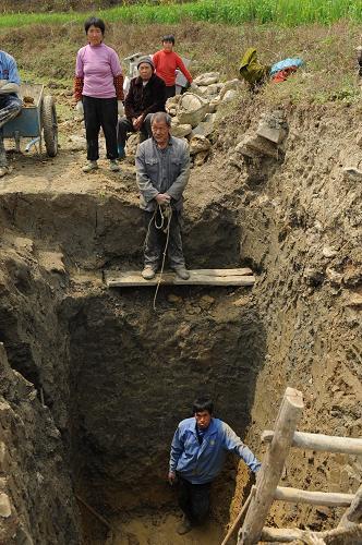
[[100,128],[106,138],[107,159],[117,159],[117,98],[94,98],[83,95],[83,108],[88,161],[99,159]]

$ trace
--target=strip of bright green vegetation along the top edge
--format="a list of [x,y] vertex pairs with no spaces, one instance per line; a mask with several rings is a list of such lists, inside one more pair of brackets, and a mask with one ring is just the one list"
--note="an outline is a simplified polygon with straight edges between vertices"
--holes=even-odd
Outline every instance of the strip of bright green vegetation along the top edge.
[[[340,19],[362,21],[362,0],[198,0],[190,3],[143,3],[119,5],[97,12],[107,22],[165,23],[185,20],[209,23],[260,24],[285,26],[321,23],[330,24]],[[64,24],[83,22],[85,13],[9,13],[0,17],[0,26],[28,24]]]

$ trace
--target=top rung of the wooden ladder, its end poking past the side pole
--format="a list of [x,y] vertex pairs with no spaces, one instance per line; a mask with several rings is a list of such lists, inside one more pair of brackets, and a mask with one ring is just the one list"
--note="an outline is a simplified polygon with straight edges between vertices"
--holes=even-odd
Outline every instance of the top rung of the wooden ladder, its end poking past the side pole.
[[[274,432],[272,429],[266,429],[262,434],[262,441],[272,443],[273,436]],[[294,433],[292,447],[309,450],[323,450],[326,452],[342,452],[345,455],[362,455],[362,439],[323,434],[306,434],[304,432]]]

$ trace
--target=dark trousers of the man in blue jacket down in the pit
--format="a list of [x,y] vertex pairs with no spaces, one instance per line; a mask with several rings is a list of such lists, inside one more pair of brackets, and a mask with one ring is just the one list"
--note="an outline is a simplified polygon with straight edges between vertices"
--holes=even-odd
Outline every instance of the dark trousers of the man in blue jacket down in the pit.
[[212,483],[192,484],[178,475],[179,506],[193,524],[202,524],[209,510]]

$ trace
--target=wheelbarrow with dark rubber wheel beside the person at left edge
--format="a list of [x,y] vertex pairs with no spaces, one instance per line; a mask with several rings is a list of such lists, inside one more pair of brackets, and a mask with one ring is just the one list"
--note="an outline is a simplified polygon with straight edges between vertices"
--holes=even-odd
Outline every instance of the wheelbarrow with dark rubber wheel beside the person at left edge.
[[16,118],[11,119],[3,125],[3,137],[14,138],[15,149],[20,152],[20,140],[32,138],[25,147],[39,143],[40,154],[43,142],[49,157],[56,157],[58,153],[58,122],[55,99],[50,95],[44,96],[44,85],[21,85],[20,96],[23,107]]

